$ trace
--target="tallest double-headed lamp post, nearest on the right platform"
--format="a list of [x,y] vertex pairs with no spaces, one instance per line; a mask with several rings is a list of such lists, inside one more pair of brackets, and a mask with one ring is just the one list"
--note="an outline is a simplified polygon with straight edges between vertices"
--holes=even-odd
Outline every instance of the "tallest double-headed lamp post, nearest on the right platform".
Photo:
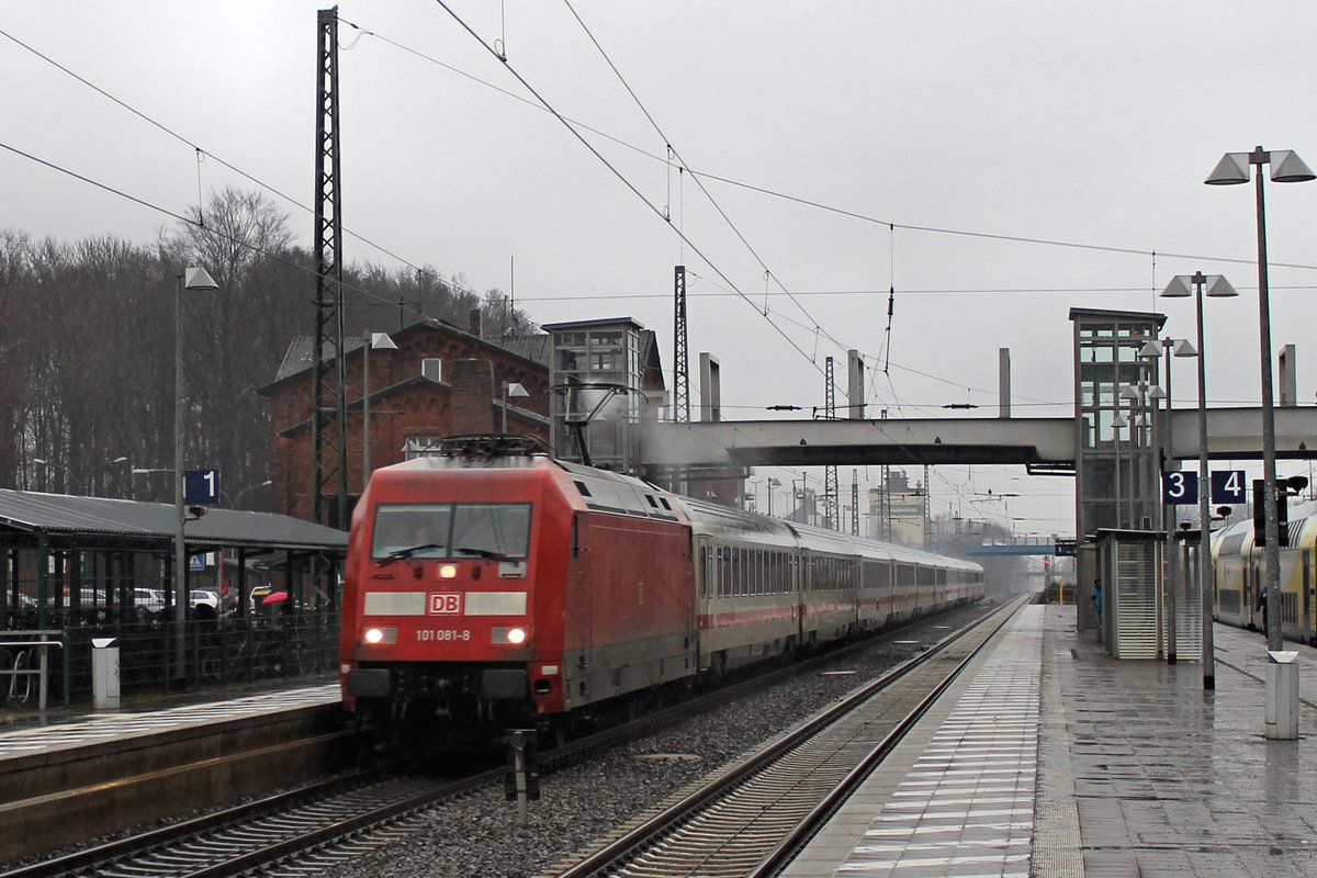
[[[1258,172],[1252,172],[1252,166],[1258,166]],[[1271,179],[1274,183],[1304,183],[1314,175],[1303,159],[1289,150],[1264,150],[1254,147],[1251,153],[1226,153],[1217,162],[1205,183],[1209,186],[1233,186],[1247,183],[1252,176],[1256,180],[1258,204],[1258,333],[1262,348],[1262,479],[1263,479],[1263,534],[1267,545],[1263,555],[1267,566],[1267,652],[1272,658],[1284,648],[1280,633],[1280,523],[1276,516],[1276,412],[1272,407],[1271,387],[1271,303],[1267,288],[1267,211],[1263,199],[1262,166],[1271,166]],[[1258,498],[1254,498],[1258,503]],[[1289,674],[1297,675],[1299,666],[1288,662],[1292,667]],[[1268,681],[1275,671],[1275,662],[1267,665]],[[1295,677],[1297,684],[1297,677]],[[1280,684],[1267,686],[1267,737],[1295,738],[1297,729],[1280,728],[1280,699],[1277,699]],[[1284,700],[1289,700],[1285,696]],[[1285,704],[1284,707],[1295,707]],[[1289,727],[1287,717],[1285,725]]]

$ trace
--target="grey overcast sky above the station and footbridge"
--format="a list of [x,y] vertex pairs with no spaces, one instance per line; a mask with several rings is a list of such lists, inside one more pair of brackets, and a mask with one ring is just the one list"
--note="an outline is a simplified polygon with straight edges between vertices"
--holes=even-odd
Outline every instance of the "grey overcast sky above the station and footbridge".
[[[722,361],[727,419],[822,407],[823,359],[840,374],[851,348],[872,413],[996,415],[1009,348],[1014,412],[1064,416],[1071,307],[1163,311],[1192,336],[1192,304],[1155,294],[1221,272],[1243,295],[1210,303],[1209,400],[1258,400],[1252,191],[1202,180],[1255,145],[1317,167],[1310,3],[445,1],[338,5],[344,224],[383,247],[349,238],[352,261],[511,286],[539,323],[633,316],[669,369],[685,263],[690,350]],[[148,244],[199,186],[255,188],[224,163],[313,204],[323,5],[5,0],[0,228]],[[309,213],[266,195],[309,245]],[[1317,184],[1267,197],[1274,345],[1299,345],[1312,404]],[[1067,479],[942,467],[931,490],[934,513],[1073,528]]]

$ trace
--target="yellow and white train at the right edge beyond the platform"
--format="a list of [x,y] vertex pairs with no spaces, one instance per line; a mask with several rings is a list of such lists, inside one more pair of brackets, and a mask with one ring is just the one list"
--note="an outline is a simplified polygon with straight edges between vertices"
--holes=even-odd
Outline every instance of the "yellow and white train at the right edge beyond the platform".
[[[1280,549],[1280,631],[1285,640],[1317,646],[1317,503],[1295,505],[1288,513],[1288,542]],[[1259,592],[1266,584],[1263,548],[1254,544],[1252,520],[1238,521],[1213,534],[1216,619],[1262,631]]]

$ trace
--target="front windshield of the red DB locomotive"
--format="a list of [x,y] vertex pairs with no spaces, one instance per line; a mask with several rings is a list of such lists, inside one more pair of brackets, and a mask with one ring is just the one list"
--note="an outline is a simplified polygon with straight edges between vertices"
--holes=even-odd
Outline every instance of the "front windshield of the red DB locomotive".
[[529,503],[390,503],[375,508],[373,558],[524,558]]

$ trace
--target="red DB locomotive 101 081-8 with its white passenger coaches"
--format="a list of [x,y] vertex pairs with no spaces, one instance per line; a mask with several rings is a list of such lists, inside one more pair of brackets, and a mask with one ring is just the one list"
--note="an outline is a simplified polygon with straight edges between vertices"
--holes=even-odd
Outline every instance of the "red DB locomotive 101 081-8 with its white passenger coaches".
[[982,594],[969,561],[454,437],[377,470],[353,512],[344,706],[432,746],[569,735]]

